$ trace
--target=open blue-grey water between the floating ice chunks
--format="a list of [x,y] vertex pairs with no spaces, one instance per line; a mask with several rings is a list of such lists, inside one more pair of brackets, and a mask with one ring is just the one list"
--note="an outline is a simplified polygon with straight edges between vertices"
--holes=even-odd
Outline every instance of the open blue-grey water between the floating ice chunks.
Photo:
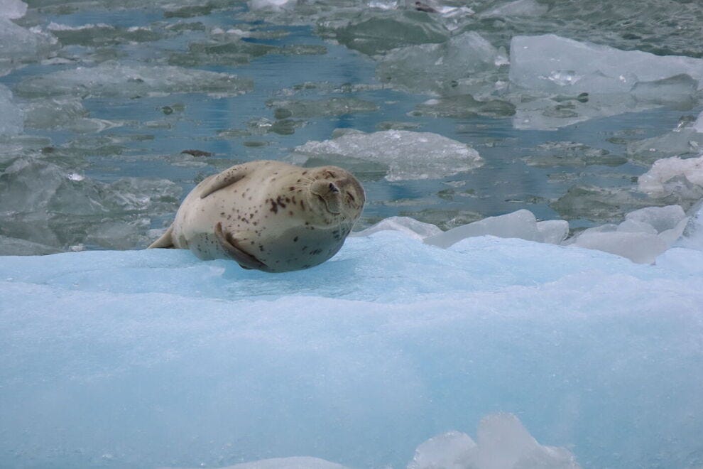
[[[393,5],[388,3],[388,6]],[[590,119],[556,131],[518,130],[509,116],[428,117],[414,111],[418,104],[432,97],[429,89],[427,94],[393,90],[388,83],[377,80],[375,59],[379,57],[372,58],[323,38],[341,34],[342,29],[335,22],[351,18],[354,37],[355,21],[376,16],[396,18],[397,15],[393,15],[400,11],[402,15],[399,17],[406,23],[440,25],[441,31],[452,27],[457,33],[469,25],[476,26],[479,33],[494,41],[495,47],[506,50],[511,31],[540,33],[563,23],[563,12],[560,21],[556,21],[560,15],[557,7],[550,10],[552,13],[543,15],[541,20],[527,15],[522,19],[508,17],[489,23],[486,18],[471,14],[459,17],[460,20],[452,16],[437,20],[439,16],[403,10],[402,6],[396,5],[396,10],[368,9],[354,2],[347,10],[325,6],[324,3],[299,4],[288,13],[249,11],[244,3],[233,6],[212,4],[212,8],[202,10],[194,10],[187,3],[180,5],[182,10],[177,8],[178,5],[164,9],[127,4],[112,9],[82,2],[63,7],[31,2],[30,6],[38,9],[30,9],[30,14],[20,23],[53,31],[60,42],[52,53],[44,55],[54,58],[49,61],[50,65],[40,57],[28,60],[26,67],[0,77],[1,84],[14,90],[16,102],[42,99],[41,89],[39,95],[22,94],[23,82],[33,77],[72,70],[77,65],[90,68],[106,60],[116,61],[117,67],[186,64],[190,69],[237,75],[254,82],[253,91],[237,96],[222,96],[221,90],[214,95],[202,92],[158,95],[163,89],[160,85],[150,91],[151,95],[138,96],[124,92],[115,95],[109,92],[110,85],[99,90],[91,89],[84,95],[79,90],[77,95],[82,97],[88,118],[107,121],[102,125],[92,122],[91,125],[97,125],[99,131],[90,126],[26,128],[24,131],[24,134],[50,139],[49,145],[41,144],[36,149],[49,146],[50,150],[60,149],[59,153],[70,153],[75,157],[73,163],[61,163],[69,173],[77,171],[90,180],[104,183],[125,177],[170,180],[182,188],[180,197],[183,197],[202,177],[231,164],[262,158],[287,158],[295,146],[329,139],[335,129],[373,132],[389,127],[447,136],[472,146],[484,158],[484,165],[473,171],[432,180],[389,182],[378,174],[361,174],[369,203],[359,228],[385,217],[407,215],[447,229],[520,208],[528,208],[542,220],[566,217],[571,221],[572,229],[618,221],[622,217],[621,211],[616,210],[605,217],[590,212],[574,214],[572,211],[560,212],[560,205],[555,202],[574,186],[632,191],[635,187],[633,181],[636,182],[635,178],[648,166],[634,160],[627,161],[626,143],[670,131],[682,116],[691,119],[700,111],[696,106],[685,110],[658,107]],[[449,6],[452,5],[449,3]],[[489,5],[473,4],[471,7],[475,11],[490,10]],[[312,14],[306,16],[306,9],[311,9]],[[506,23],[498,28],[496,22],[500,21]],[[568,32],[568,21],[573,23],[574,38],[601,43],[609,38],[609,33],[598,28],[594,28],[590,37],[585,37],[582,23],[572,19],[567,19],[566,26],[560,26],[560,32]],[[247,36],[251,37],[235,41],[234,33],[227,33],[231,29],[249,31]],[[426,39],[424,36],[408,36],[407,32],[402,34],[400,38],[405,38],[408,45]],[[348,39],[344,41],[349,45]],[[662,41],[670,47],[669,53],[685,52],[675,49],[678,43],[668,30],[663,30]],[[611,43],[624,48],[619,41]],[[208,51],[202,44],[219,44],[224,49],[211,48]],[[379,43],[373,44],[375,48],[381,47]],[[647,44],[649,40],[637,42],[631,39],[628,42],[629,48],[650,50]],[[351,46],[356,47],[353,42]],[[225,49],[226,53],[223,52]],[[303,55],[297,55],[294,50]],[[489,72],[491,80],[506,78],[506,70],[507,65],[498,65]],[[118,85],[114,86],[119,88]],[[275,107],[267,105],[281,99],[332,98],[363,99],[376,104],[377,110],[276,119],[281,116],[276,114]],[[555,146],[553,142],[574,142],[592,147],[592,151],[605,151],[608,155],[605,161],[612,158],[615,163],[589,164],[583,158],[579,161],[579,156],[559,163],[560,152],[569,150],[563,144]],[[545,150],[540,150],[543,148],[540,145],[544,144],[550,148],[546,151],[547,161],[535,163],[535,158],[545,156]],[[180,154],[192,149],[211,154],[199,157]],[[554,161],[555,156],[557,161]],[[8,184],[0,189],[12,190],[11,181]],[[663,203],[648,200],[628,208],[643,205]],[[160,212],[146,209],[138,217],[148,218],[148,227],[160,229],[168,224],[175,207]],[[129,247],[143,247],[150,236],[145,231],[148,227],[141,224],[138,229],[141,237]],[[4,227],[1,231],[0,234],[6,236],[23,237],[22,230]],[[61,234],[59,237],[70,238]],[[89,248],[116,247],[114,242],[102,245],[85,239],[72,239],[71,242],[83,242]],[[65,242],[54,245],[58,249],[68,247]]]

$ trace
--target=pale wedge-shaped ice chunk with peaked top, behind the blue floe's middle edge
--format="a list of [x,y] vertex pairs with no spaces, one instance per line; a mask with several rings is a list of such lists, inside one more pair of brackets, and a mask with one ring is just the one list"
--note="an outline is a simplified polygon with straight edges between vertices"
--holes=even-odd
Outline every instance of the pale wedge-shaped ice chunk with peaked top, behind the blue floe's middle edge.
[[537,219],[530,210],[486,217],[483,220],[452,228],[446,232],[425,238],[425,243],[439,247],[449,247],[462,239],[476,236],[497,236],[501,238],[521,238],[528,241],[562,242],[568,232],[569,223],[565,220],[550,220],[538,227]]

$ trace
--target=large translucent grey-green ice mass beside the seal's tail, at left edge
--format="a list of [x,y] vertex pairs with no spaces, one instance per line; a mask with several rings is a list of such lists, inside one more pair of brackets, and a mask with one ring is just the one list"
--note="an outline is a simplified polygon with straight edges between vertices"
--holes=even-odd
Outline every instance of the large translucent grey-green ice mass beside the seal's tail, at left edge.
[[[81,242],[131,249],[146,244],[150,217],[175,212],[180,192],[170,180],[102,183],[38,156],[21,156],[0,171],[0,225],[8,237],[59,249]],[[28,248],[23,254],[35,252]]]

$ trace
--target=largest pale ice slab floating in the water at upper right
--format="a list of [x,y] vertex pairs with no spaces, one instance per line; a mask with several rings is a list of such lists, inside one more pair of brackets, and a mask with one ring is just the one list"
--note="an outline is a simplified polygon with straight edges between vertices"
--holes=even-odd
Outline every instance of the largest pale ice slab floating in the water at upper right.
[[664,104],[690,108],[703,87],[703,60],[554,34],[514,36],[508,75],[516,128],[557,129]]

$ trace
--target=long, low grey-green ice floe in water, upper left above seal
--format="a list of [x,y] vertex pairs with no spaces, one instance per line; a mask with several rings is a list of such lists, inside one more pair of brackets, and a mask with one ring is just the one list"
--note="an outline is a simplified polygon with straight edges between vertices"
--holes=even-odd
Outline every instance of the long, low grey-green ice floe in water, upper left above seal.
[[168,65],[124,65],[108,60],[93,68],[32,77],[19,83],[15,90],[30,97],[146,97],[187,92],[231,96],[249,92],[253,87],[251,80],[226,73]]

